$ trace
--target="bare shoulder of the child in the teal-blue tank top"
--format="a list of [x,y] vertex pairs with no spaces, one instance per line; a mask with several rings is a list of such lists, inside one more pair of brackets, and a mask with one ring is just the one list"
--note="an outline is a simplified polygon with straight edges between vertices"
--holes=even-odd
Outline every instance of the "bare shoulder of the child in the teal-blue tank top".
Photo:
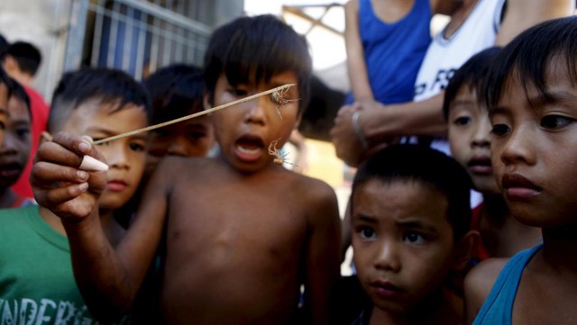
[[467,323],[472,323],[489,296],[501,269],[508,258],[489,258],[474,266],[465,277],[465,313]]

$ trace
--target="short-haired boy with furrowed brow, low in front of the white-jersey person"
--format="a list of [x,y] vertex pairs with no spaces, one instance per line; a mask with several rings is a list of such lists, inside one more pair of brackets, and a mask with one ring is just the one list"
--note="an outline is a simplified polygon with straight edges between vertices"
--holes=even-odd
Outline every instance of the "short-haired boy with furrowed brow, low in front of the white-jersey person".
[[358,280],[332,309],[352,312],[336,313],[335,323],[462,323],[450,283],[478,236],[469,230],[470,188],[453,158],[422,146],[392,145],[363,163],[351,204]]

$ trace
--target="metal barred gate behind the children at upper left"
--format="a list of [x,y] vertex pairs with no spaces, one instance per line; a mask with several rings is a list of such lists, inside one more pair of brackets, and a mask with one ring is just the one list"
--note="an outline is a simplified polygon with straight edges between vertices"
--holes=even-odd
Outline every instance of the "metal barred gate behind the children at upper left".
[[65,70],[122,69],[137,80],[170,63],[200,66],[210,35],[210,1],[76,0]]

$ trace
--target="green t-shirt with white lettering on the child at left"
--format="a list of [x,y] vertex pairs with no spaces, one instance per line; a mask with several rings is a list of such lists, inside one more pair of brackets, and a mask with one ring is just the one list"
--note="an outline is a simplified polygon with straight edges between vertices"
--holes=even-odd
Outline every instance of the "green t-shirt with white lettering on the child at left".
[[0,210],[0,324],[98,324],[72,273],[68,239],[36,205]]

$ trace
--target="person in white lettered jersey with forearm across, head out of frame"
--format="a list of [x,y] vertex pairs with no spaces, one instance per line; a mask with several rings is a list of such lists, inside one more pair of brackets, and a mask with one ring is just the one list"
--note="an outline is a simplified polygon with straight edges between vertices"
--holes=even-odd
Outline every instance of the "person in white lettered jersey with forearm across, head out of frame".
[[[575,9],[575,0],[435,2],[450,9],[442,14],[451,15],[451,20],[435,35],[427,49],[417,74],[413,101],[389,105],[357,103],[343,107],[331,132],[338,157],[359,161],[370,154],[372,148],[403,136],[417,136],[419,143],[425,144],[435,139],[431,146],[448,153],[442,93],[454,71],[480,50],[506,44],[528,27],[547,19],[572,15]],[[356,134],[366,138],[369,149],[357,149],[360,142]]]

